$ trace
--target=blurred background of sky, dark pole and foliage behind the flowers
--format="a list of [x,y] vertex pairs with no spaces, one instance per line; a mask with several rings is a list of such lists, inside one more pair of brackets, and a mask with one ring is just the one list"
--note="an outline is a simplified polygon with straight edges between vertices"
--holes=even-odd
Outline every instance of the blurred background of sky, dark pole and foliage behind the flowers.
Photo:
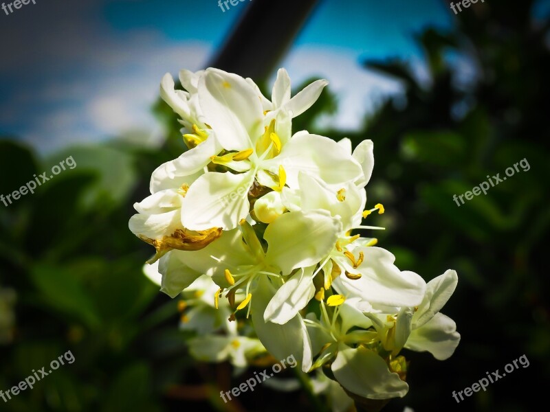
[[[458,14],[439,0],[294,3],[36,0],[0,11],[0,194],[76,163],[0,203],[0,390],[69,350],[76,358],[0,411],[327,407],[268,385],[223,404],[219,391],[243,376],[190,358],[178,299],[143,275],[152,248],[128,229],[132,205],[184,150],[159,82],[210,65],[265,91],[278,67],[296,91],[327,78],[294,130],[372,139],[380,246],[426,281],[459,273],[443,313],[461,344],[443,362],[405,351],[410,391],[384,411],[535,409],[550,376],[550,1],[485,0]],[[522,159],[529,170],[454,203]],[[529,367],[456,404],[452,391],[523,354]]]

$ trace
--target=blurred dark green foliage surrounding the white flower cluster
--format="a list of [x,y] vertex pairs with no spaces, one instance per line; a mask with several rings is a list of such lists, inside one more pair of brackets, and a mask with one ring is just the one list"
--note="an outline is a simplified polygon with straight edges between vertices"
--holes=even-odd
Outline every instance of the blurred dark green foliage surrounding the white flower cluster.
[[[404,405],[416,411],[531,410],[533,389],[550,374],[549,280],[542,259],[550,225],[550,21],[533,19],[532,5],[485,2],[459,14],[452,32],[418,34],[427,82],[405,61],[366,61],[402,82],[405,93],[366,117],[360,132],[316,126],[336,108],[327,91],[294,122],[294,130],[349,137],[354,144],[373,139],[376,166],[367,194],[368,205],[386,207],[386,214],[369,217],[387,228],[375,233],[380,246],[395,253],[400,268],[426,280],[447,268],[459,273],[443,312],[456,321],[461,345],[445,362],[406,352],[410,393],[387,411]],[[473,68],[470,78],[464,67]],[[152,251],[128,230],[131,205],[146,196],[156,166],[183,147],[170,108],[159,102],[155,113],[170,128],[162,150],[113,141],[39,159],[12,139],[0,141],[1,194],[68,156],[77,164],[36,194],[0,204],[0,289],[17,294],[13,339],[0,341],[0,389],[69,350],[76,358],[34,390],[0,400],[0,410],[278,411],[289,402],[312,410],[303,393],[266,387],[221,404],[219,387],[232,386],[228,365],[190,360],[186,336],[177,330],[177,301],[142,275]],[[522,159],[530,170],[520,169],[486,196],[454,203],[454,194],[472,190],[487,175],[504,176]],[[452,391],[522,354],[527,369],[456,404]]]

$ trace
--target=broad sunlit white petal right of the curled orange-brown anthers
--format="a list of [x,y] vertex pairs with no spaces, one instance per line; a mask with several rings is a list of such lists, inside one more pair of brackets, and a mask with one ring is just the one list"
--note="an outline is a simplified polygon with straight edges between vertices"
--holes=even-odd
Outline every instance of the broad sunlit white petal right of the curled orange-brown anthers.
[[364,261],[353,268],[348,258],[336,258],[343,271],[360,273],[360,279],[339,276],[333,285],[338,292],[350,297],[360,297],[371,304],[385,306],[409,306],[420,304],[426,291],[426,282],[413,272],[401,272],[393,264],[395,256],[380,247],[360,247],[353,250],[357,258],[364,254]]

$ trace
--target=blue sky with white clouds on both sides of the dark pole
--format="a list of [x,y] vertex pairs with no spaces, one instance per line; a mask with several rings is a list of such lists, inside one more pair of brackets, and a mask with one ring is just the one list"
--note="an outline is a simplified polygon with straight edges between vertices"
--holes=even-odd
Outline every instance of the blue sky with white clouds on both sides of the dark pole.
[[[222,12],[217,0],[37,0],[0,14],[0,134],[45,152],[113,135],[157,141],[150,108],[162,75],[206,65],[247,4]],[[340,96],[331,122],[353,129],[399,92],[362,59],[418,64],[411,34],[453,18],[439,0],[322,0],[281,66],[294,84],[327,78]]]

